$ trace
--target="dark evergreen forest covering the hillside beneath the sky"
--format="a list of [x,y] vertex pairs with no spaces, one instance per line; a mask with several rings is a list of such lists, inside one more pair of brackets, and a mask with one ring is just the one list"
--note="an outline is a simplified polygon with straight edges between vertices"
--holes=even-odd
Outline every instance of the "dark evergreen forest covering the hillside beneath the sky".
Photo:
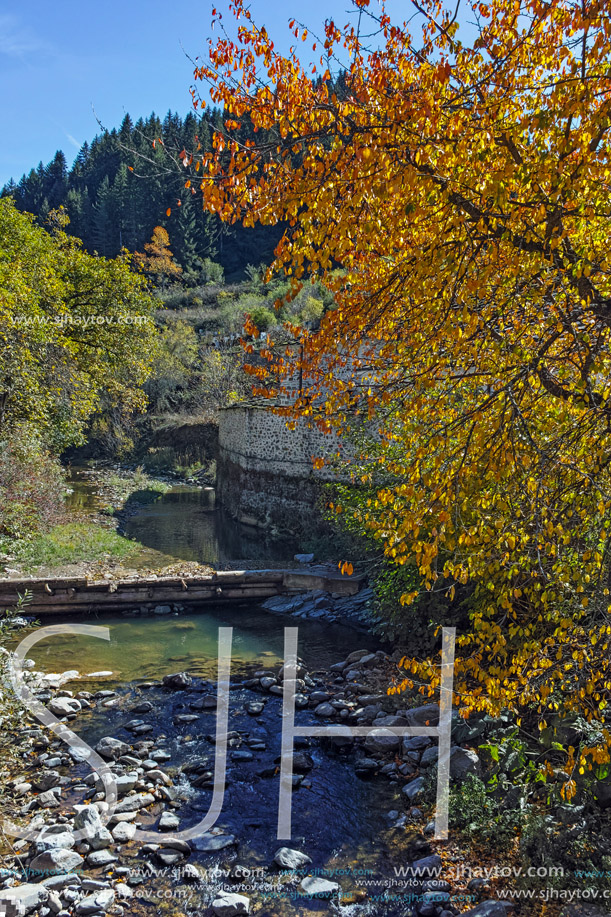
[[[240,279],[247,264],[271,261],[278,228],[222,224],[203,210],[201,198],[185,192],[184,175],[166,152],[191,150],[197,143],[202,150],[210,149],[222,121],[218,109],[185,118],[168,112],[163,121],[152,114],[135,123],[126,115],[118,130],[83,144],[72,168],[59,150],[48,165],[41,162],[19,182],[5,185],[2,196],[13,197],[20,210],[42,222],[51,210],[64,206],[69,232],[89,252],[110,258],[122,248],[142,250],[154,227],[163,226],[183,269],[183,283],[201,281],[206,258],[220,262],[229,279]],[[241,133],[242,140],[252,133],[247,119]]]

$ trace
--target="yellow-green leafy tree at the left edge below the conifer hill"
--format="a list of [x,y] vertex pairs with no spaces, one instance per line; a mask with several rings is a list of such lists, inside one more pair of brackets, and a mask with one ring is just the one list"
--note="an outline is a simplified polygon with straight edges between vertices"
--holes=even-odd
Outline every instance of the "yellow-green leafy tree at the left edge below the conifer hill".
[[129,256],[88,255],[66,225],[0,200],[0,437],[28,427],[54,454],[84,442],[103,395],[144,408],[157,336]]

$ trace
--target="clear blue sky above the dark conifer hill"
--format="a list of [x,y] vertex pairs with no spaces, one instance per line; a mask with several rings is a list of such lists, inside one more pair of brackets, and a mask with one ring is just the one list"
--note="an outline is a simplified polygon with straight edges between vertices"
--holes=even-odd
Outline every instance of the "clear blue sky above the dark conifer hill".
[[[374,0],[375,2],[375,0]],[[151,111],[190,108],[193,66],[204,54],[212,3],[177,0],[0,2],[0,186],[63,149],[71,163],[98,132]],[[226,0],[219,0],[226,10]],[[393,0],[406,11],[409,4]],[[251,0],[281,49],[288,20],[318,30],[328,16],[348,20],[348,0]],[[373,3],[372,3],[373,7]],[[229,14],[226,13],[228,19]]]

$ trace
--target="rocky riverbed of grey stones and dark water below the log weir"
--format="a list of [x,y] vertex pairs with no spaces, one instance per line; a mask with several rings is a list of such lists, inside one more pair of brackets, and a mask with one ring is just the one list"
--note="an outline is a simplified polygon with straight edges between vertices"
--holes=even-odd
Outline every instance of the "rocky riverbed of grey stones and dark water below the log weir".
[[[276,603],[270,610],[301,617],[337,613],[333,601],[323,608],[320,599],[293,598],[292,607]],[[364,605],[355,608],[360,613]],[[430,806],[420,807],[436,748],[426,736],[389,732],[434,723],[437,709],[408,707],[405,697],[389,696],[398,655],[363,643],[324,670],[300,663],[297,725],[345,723],[375,731],[366,738],[296,740],[294,830],[282,842],[275,840],[282,665],[241,666],[233,673],[223,812],[214,827],[190,840],[176,835],[206,814],[212,793],[214,681],[185,670],[79,690],[76,670],[30,671],[37,698],[109,763],[119,800],[107,818],[103,786],[82,755],[24,716],[14,736],[19,763],[5,775],[4,814],[33,836],[6,839],[0,904],[14,902],[16,913],[40,917],[289,917],[321,908],[345,917],[465,911],[504,917],[505,905],[477,904],[474,888],[444,879]],[[105,673],[97,676],[103,682]],[[480,768],[473,750],[453,749],[454,779]],[[328,817],[338,794],[355,801],[339,831]],[[340,802],[338,811],[345,812],[346,799]],[[364,813],[363,802],[373,811]],[[136,841],[139,828],[158,832],[158,840]],[[76,839],[79,829],[83,837]]]

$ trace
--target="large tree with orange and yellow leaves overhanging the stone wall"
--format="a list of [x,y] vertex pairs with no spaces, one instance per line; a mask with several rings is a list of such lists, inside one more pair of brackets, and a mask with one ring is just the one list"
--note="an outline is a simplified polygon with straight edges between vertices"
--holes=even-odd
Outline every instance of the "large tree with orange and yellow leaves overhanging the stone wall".
[[[604,718],[609,3],[492,0],[457,16],[413,0],[407,25],[354,0],[352,24],[327,20],[320,38],[291,23],[311,66],[279,54],[242,0],[231,8],[237,40],[211,43],[196,71],[225,122],[189,180],[228,222],[284,221],[274,269],[335,295],[315,332],[295,329],[304,387],[289,413],[366,421],[362,524],[423,589],[475,584],[465,711]],[[278,356],[269,391],[295,369]]]

